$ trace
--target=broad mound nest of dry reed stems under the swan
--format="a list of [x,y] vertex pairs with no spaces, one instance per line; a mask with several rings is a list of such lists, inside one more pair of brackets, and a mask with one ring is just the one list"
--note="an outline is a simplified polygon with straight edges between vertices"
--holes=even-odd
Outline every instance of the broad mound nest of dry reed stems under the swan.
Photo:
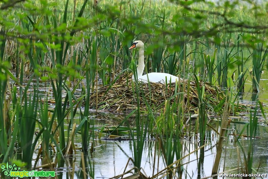
[[[200,88],[205,88],[203,101],[206,109],[213,110],[225,99],[225,94],[217,85],[199,82]],[[131,75],[122,75],[113,83],[98,88],[90,95],[90,108],[129,113],[138,108],[161,112],[165,105],[174,103],[183,107],[184,111],[197,111],[197,83],[183,80],[172,84],[141,83],[131,79]],[[97,105],[98,103],[98,105]],[[178,106],[178,105],[177,105]]]

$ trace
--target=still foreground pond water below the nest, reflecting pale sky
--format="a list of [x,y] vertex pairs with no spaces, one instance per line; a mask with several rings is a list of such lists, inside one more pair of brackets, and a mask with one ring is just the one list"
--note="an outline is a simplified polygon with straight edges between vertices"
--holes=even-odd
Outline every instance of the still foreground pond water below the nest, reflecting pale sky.
[[[241,119],[241,121],[243,121],[243,118]],[[212,125],[214,127],[218,126],[217,122],[215,121],[212,122]],[[229,128],[236,129],[237,133],[239,133],[240,130],[243,128],[243,124],[231,123],[231,126]],[[255,169],[258,169],[258,173],[268,174],[267,126],[259,125],[257,129],[257,136],[260,138],[254,139],[253,166]],[[76,142],[79,145],[79,135],[76,136],[76,138]],[[201,175],[199,176],[197,174],[198,158],[200,154],[200,150],[197,150],[197,152],[190,154],[188,157],[182,160],[182,164],[185,164],[183,165],[182,178],[204,178],[211,176],[213,162],[215,160],[216,155],[216,142],[218,136],[215,131],[208,129],[206,131],[206,138],[207,146],[205,146],[205,158],[201,166]],[[240,151],[240,153],[238,154],[237,150],[239,146],[234,144],[233,139],[234,138],[231,135],[224,142],[224,149],[220,161],[219,173],[243,166],[243,153]],[[190,152],[196,150],[199,147],[198,141],[198,136],[194,134],[193,137],[182,140],[181,144],[183,156],[186,156]],[[128,163],[128,159],[133,158],[133,142],[131,140],[96,140],[95,142],[96,147],[93,154],[95,178],[110,178],[124,173],[124,170],[128,171],[133,169],[134,166],[132,162],[130,161]],[[247,139],[244,139],[243,142],[245,144],[245,148],[247,148]],[[158,146],[157,142],[155,143],[155,141],[146,141],[144,150],[142,151],[143,157],[141,161],[141,167],[143,169],[144,175],[148,177],[151,177],[158,171],[166,168],[163,157],[162,155],[160,155],[159,157],[158,149],[155,151],[155,146]],[[74,165],[76,166],[76,170],[78,172],[81,160],[81,154],[79,153],[79,151],[77,151],[77,155],[75,155],[74,158],[76,158],[76,162]],[[134,170],[132,172],[134,172]],[[228,173],[238,174],[243,172],[241,171],[241,169],[236,169]],[[67,173],[65,174],[67,175]],[[128,173],[124,175],[124,177],[129,176],[130,174],[131,173]],[[77,174],[77,176],[74,177],[79,178],[79,175]]]

